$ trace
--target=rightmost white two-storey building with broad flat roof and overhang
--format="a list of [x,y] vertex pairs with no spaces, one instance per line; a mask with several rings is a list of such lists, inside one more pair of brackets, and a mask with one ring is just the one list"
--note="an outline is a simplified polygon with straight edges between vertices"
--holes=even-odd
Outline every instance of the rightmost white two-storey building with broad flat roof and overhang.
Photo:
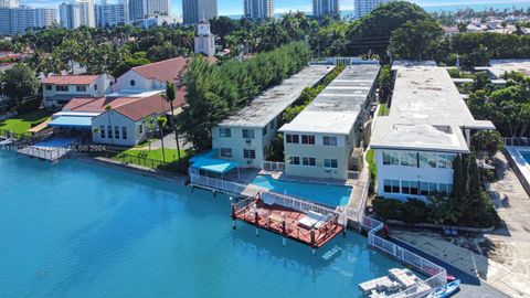
[[473,118],[447,70],[394,63],[390,116],[378,117],[370,148],[375,150],[378,195],[425,199],[453,191],[453,161],[469,153],[470,131],[491,130]]

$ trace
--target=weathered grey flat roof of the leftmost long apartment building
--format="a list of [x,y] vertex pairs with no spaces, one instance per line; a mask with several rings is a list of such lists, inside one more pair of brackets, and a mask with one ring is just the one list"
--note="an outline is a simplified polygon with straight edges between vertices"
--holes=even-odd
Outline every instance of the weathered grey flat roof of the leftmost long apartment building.
[[330,65],[307,66],[285,79],[282,85],[261,93],[248,106],[224,119],[219,126],[265,127],[293,105],[306,87],[316,85],[332,70],[333,66]]

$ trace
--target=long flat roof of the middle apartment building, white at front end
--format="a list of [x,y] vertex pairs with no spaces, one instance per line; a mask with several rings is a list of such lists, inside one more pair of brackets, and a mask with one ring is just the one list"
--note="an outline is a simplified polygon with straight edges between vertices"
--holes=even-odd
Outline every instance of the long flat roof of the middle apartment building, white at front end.
[[380,65],[351,65],[279,131],[349,135],[367,102]]

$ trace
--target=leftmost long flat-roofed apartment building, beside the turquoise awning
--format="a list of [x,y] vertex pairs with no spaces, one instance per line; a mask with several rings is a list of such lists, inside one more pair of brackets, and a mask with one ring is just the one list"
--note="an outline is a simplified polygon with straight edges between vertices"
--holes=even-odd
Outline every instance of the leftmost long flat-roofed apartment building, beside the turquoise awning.
[[333,67],[308,66],[263,92],[248,106],[212,129],[212,148],[216,158],[235,161],[241,168],[263,168],[271,141],[284,110],[301,95],[304,88],[320,82]]

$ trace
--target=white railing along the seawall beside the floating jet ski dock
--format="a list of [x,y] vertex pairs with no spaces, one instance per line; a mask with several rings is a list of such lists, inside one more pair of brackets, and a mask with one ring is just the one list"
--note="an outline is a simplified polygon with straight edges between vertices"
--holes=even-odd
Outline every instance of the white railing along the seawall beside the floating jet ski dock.
[[416,298],[425,297],[428,292],[432,292],[435,288],[444,286],[447,283],[447,272],[445,268],[425,259],[407,249],[389,242],[377,233],[383,230],[383,223],[367,216],[362,216],[362,226],[369,230],[368,244],[373,246],[388,255],[393,256],[399,262],[405,265],[414,267],[416,270],[431,276],[430,278],[422,280],[413,287],[410,287],[401,292],[394,294],[390,297],[406,297]]

